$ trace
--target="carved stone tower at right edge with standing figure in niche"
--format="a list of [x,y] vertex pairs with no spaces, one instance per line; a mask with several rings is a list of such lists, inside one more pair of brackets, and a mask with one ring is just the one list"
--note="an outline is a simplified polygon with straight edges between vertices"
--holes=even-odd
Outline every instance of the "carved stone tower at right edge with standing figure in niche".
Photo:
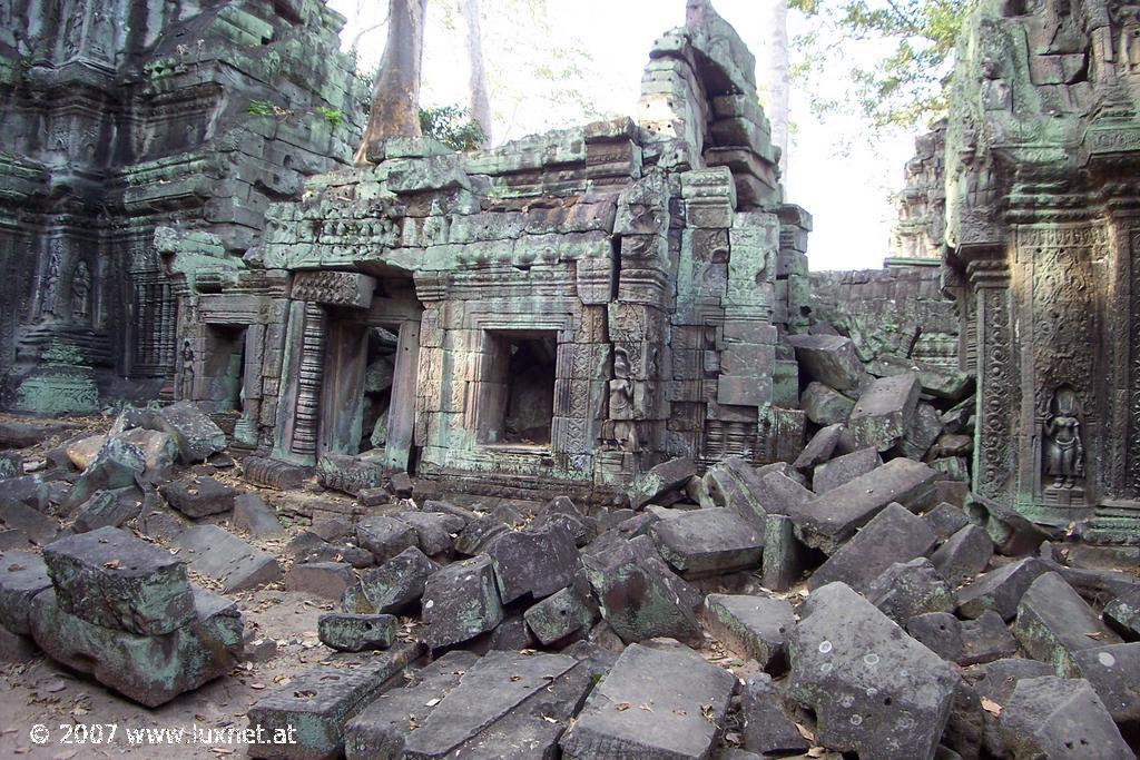
[[1138,33],[1125,2],[986,0],[946,128],[975,490],[1101,540],[1140,531]]

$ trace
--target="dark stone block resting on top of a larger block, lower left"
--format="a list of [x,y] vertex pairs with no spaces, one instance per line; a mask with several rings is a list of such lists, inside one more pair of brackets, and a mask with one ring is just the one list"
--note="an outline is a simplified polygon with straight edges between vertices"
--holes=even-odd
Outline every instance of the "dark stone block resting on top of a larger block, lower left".
[[68,536],[43,548],[59,604],[90,623],[161,636],[194,620],[182,561],[116,528]]

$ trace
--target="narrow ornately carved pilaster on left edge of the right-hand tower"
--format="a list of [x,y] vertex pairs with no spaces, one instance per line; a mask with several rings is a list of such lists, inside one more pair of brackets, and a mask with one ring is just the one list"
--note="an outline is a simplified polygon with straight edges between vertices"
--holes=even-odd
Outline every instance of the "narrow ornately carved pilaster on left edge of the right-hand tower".
[[1004,261],[975,261],[968,273],[975,291],[978,342],[974,490],[1009,504],[1013,485],[1011,417],[1017,408],[1009,268]]

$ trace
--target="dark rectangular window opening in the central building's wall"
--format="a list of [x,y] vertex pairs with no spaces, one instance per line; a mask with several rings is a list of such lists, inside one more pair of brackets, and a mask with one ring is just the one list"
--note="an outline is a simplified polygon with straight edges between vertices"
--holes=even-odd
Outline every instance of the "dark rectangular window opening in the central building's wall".
[[478,403],[482,444],[551,446],[557,336],[553,330],[488,330]]

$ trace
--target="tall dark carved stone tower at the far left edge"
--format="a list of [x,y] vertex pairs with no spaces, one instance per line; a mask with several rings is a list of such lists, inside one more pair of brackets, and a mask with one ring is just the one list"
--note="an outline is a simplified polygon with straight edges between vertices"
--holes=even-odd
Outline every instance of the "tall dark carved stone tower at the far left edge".
[[[155,228],[209,232],[202,252],[242,267],[269,203],[347,161],[361,85],[343,21],[318,0],[0,3],[9,408],[89,411],[113,378],[139,395],[173,379]],[[209,370],[234,385],[234,367]]]

